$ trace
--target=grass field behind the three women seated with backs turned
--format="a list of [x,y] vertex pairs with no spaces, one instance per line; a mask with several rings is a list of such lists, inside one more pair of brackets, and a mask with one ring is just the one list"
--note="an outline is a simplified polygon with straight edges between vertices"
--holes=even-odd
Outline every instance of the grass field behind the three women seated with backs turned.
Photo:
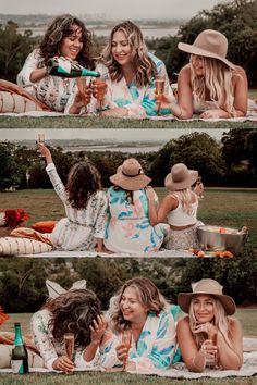
[[[156,188],[160,200],[164,188]],[[0,208],[22,208],[30,214],[29,226],[37,221],[60,220],[65,215],[62,202],[53,190],[21,190],[0,192]],[[200,200],[198,219],[206,224],[241,228],[247,226],[247,247],[257,250],[257,190],[211,189],[205,190]]]

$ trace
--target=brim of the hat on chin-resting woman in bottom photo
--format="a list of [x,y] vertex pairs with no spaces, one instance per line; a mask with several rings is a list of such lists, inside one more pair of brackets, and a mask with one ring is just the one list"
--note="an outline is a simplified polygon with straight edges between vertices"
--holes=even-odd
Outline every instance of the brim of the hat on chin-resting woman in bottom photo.
[[211,294],[207,291],[180,293],[178,296],[178,305],[185,313],[188,313],[192,298],[199,294],[217,297],[221,301],[227,315],[233,315],[235,313],[236,307],[233,298],[230,296],[225,296],[224,294]]

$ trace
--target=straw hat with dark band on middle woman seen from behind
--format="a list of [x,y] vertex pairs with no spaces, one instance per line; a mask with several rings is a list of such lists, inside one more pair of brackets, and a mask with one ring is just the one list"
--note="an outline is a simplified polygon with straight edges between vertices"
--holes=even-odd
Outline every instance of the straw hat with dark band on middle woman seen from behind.
[[151,178],[144,174],[142,165],[136,159],[130,158],[118,167],[118,172],[110,177],[110,181],[124,190],[136,191],[146,187]]

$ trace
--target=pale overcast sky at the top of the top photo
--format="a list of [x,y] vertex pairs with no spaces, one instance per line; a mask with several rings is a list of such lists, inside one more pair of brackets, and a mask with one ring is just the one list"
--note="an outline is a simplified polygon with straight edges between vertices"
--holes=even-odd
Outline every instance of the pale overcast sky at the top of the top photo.
[[1,0],[0,13],[88,14],[107,18],[191,18],[223,0]]

